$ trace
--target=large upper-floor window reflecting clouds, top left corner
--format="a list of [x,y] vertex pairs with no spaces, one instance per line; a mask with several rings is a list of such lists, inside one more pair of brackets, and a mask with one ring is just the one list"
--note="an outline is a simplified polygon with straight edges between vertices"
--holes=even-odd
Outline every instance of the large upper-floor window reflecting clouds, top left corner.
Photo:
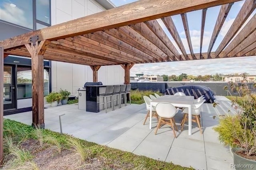
[[33,0],[0,0],[0,20],[33,29]]

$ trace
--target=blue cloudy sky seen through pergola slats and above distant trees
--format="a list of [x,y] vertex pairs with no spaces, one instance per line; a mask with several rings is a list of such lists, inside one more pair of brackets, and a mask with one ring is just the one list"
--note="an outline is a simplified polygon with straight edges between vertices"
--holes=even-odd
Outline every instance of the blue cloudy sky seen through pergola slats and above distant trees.
[[[135,2],[136,0],[111,0],[113,4],[116,6],[121,6],[124,4],[128,4],[131,2]],[[215,51],[226,35],[226,32],[232,25],[234,19],[236,18],[238,12],[240,11],[242,5],[244,4],[244,0],[235,2],[232,5],[232,8],[220,30],[220,33],[216,39],[216,42],[213,46],[212,51]],[[202,46],[202,52],[207,52],[208,46],[210,43],[210,39],[212,36],[212,31],[214,29],[214,25],[216,23],[218,13],[220,11],[220,6],[208,8],[206,12],[206,24],[204,29],[204,40]],[[256,10],[251,14],[246,23],[250,20],[250,18],[256,13]],[[193,11],[187,13],[188,16],[188,25],[190,29],[190,36],[192,40],[192,46],[194,53],[200,52],[200,29],[201,29],[201,18],[202,18],[202,10]],[[190,53],[188,48],[188,43],[186,40],[186,35],[184,33],[184,27],[182,23],[182,19],[180,15],[172,16],[174,24],[180,34],[184,47],[187,53]],[[178,49],[174,39],[168,32],[167,28],[158,20],[172,43]],[[245,24],[246,24],[245,23]],[[245,25],[244,24],[244,25]],[[179,49],[178,49],[179,51]],[[180,52],[180,51],[179,51]],[[256,57],[234,57],[232,59],[207,59],[207,60],[198,60],[198,61],[180,61],[180,62],[166,62],[166,63],[150,63],[150,64],[135,64],[130,74],[134,76],[137,72],[144,72],[144,74],[176,74],[179,75],[181,73],[193,74],[193,75],[204,75],[204,74],[215,74],[216,72],[222,74],[230,74],[230,73],[243,73],[247,72],[249,74],[256,74],[256,69],[254,64],[256,62]]]

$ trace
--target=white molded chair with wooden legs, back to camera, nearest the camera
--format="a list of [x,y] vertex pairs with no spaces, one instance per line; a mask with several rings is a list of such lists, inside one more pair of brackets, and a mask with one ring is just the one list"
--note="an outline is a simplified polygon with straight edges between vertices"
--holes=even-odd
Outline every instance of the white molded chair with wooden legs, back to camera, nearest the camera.
[[[162,124],[168,124],[172,127],[174,137],[176,138],[176,131],[178,131],[178,128],[176,126],[174,115],[178,113],[179,109],[176,109],[172,104],[167,102],[159,102],[156,104],[156,113],[158,114],[159,121],[158,125],[156,127],[155,135],[157,133],[157,130],[159,129],[160,125]],[[175,129],[174,129],[175,128]]]

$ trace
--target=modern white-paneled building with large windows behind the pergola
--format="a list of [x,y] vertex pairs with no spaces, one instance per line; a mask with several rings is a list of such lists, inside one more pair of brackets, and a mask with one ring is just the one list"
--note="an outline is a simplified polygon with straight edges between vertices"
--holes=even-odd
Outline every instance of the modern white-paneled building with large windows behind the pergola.
[[[2,0],[0,1],[0,40],[74,20],[114,8],[108,0]],[[44,95],[66,89],[77,94],[85,82],[92,82],[90,66],[44,61]],[[120,65],[102,66],[98,81],[123,84]],[[32,106],[31,59],[8,56],[4,59],[4,109]]]

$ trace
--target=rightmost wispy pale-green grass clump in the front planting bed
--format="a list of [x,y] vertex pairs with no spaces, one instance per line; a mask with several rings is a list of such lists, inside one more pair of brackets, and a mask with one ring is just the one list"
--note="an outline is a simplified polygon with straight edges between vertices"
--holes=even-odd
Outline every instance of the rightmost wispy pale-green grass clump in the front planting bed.
[[90,157],[90,152],[86,147],[76,138],[70,137],[68,139],[70,150],[79,154],[81,161],[85,162]]

